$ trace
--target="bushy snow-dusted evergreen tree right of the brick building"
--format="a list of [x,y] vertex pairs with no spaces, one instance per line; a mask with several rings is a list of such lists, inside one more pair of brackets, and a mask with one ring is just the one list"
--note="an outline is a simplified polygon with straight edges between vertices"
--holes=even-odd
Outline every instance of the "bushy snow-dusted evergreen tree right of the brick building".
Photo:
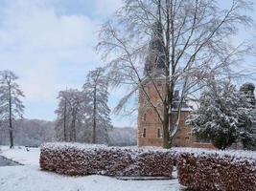
[[211,140],[219,149],[253,138],[251,105],[230,82],[211,83],[199,102],[198,110],[187,120],[198,138]]

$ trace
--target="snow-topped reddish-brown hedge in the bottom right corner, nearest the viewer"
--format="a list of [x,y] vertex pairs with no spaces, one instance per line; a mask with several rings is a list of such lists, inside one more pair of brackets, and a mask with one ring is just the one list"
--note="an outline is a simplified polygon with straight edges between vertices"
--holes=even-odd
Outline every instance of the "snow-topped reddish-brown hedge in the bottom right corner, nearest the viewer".
[[197,191],[255,191],[256,153],[206,150],[180,151],[179,183]]

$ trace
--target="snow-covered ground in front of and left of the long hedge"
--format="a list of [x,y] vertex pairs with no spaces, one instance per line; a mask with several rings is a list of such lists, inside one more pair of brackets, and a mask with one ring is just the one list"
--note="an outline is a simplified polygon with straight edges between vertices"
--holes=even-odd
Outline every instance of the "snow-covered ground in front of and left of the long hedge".
[[67,177],[39,169],[39,149],[0,147],[0,156],[26,164],[0,167],[2,191],[180,191],[177,180],[117,180],[104,176]]

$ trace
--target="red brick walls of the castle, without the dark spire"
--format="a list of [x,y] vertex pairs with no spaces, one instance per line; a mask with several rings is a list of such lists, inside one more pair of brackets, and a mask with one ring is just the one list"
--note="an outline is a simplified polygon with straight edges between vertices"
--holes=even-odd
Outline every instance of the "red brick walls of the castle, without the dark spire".
[[[157,86],[157,91],[154,87]],[[161,80],[155,81],[153,84],[151,81],[144,81],[144,90],[148,93],[153,105],[157,106],[157,110],[161,112],[162,105],[160,100],[160,94],[164,93],[164,86]],[[177,147],[203,147],[214,148],[210,143],[196,142],[196,138],[192,135],[192,129],[185,124],[186,117],[190,115],[191,110],[184,108],[181,112],[179,128],[173,139],[173,146]],[[171,128],[176,122],[176,112],[171,114]],[[149,101],[143,90],[139,91],[139,108],[138,108],[138,146],[163,146],[162,138],[162,125],[159,121],[156,112],[151,107]]]

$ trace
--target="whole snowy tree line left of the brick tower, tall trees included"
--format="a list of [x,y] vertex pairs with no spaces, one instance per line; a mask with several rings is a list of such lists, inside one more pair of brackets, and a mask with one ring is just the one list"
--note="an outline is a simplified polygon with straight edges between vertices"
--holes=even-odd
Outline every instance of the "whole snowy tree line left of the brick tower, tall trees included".
[[56,140],[136,145],[136,129],[111,125],[103,68],[87,75],[81,91],[59,92],[56,121],[23,118],[24,94],[17,79],[11,71],[0,71],[0,145],[39,146]]

